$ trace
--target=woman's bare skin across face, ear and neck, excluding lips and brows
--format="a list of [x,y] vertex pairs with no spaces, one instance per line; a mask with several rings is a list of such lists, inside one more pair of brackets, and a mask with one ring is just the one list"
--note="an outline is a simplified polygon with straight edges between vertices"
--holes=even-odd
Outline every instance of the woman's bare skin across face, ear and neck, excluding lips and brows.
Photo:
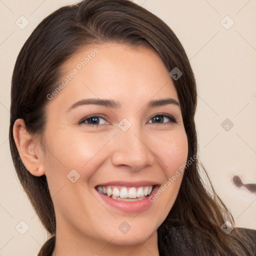
[[[186,163],[188,144],[178,105],[147,107],[151,99],[178,101],[169,71],[157,53],[147,47],[107,43],[81,50],[63,66],[63,77],[87,54],[90,59],[46,108],[44,146],[17,119],[13,135],[22,162],[33,175],[46,175],[56,213],[56,256],[159,255],[156,229],[166,218],[182,180],[181,175],[139,213],[125,213],[99,199],[97,184],[113,180],[150,180],[163,185]],[[68,108],[84,98],[113,99],[114,109],[102,105]],[[155,120],[157,114],[170,114]],[[99,114],[96,127],[80,123]],[[126,118],[131,127],[117,125]],[[96,122],[97,123],[97,122]],[[80,177],[72,183],[67,174]],[[160,209],[160,210],[159,210]],[[131,229],[123,234],[118,226]],[[53,253],[54,254],[54,253]]]

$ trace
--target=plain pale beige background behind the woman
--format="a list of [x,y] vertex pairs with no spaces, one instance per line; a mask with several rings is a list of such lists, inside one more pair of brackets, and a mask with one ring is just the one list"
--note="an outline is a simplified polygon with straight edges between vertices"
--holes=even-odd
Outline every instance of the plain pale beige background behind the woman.
[[[14,61],[42,18],[74,2],[0,0],[0,256],[36,255],[47,239],[17,181],[9,152]],[[241,175],[244,182],[256,181],[256,0],[134,2],[162,18],[184,46],[199,93],[196,124],[200,159],[217,193],[230,208],[236,226],[256,229],[255,194],[237,189],[231,182],[233,174]],[[24,29],[15,23],[22,15],[29,21]],[[229,27],[232,20],[234,24]],[[226,118],[234,124],[228,131],[221,126]],[[20,221],[29,227],[23,235],[15,229]]]

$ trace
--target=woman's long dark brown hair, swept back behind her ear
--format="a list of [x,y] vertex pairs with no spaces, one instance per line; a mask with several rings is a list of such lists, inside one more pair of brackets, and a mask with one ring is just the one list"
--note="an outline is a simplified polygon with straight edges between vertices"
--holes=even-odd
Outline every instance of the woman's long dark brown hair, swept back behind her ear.
[[[30,133],[43,134],[45,106],[49,103],[47,94],[56,88],[61,67],[84,46],[104,42],[134,47],[149,45],[167,70],[178,67],[182,71],[182,76],[173,79],[173,83],[188,139],[187,159],[197,153],[195,78],[185,50],[172,30],[157,16],[129,0],[83,0],[57,9],[39,23],[24,43],[11,81],[9,143],[12,160],[34,210],[52,236],[38,256],[50,255],[54,248],[55,213],[45,175],[30,174],[19,157],[12,135],[13,123],[22,118]],[[221,230],[220,226],[226,220],[234,225],[234,219],[210,182],[205,188],[199,165],[204,170],[197,159],[185,169],[177,198],[157,230],[159,253],[168,251],[169,245],[161,238],[168,223],[176,221],[180,226],[196,230],[195,246],[200,255],[252,255],[250,240],[245,234],[234,229],[227,235]],[[211,246],[203,246],[200,240]]]

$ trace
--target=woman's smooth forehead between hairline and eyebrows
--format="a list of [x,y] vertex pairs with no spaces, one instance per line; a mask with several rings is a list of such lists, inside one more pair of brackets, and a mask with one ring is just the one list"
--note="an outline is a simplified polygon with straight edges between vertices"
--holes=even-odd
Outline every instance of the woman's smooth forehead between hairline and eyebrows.
[[64,63],[61,74],[55,99],[68,104],[85,97],[114,98],[124,104],[178,99],[169,71],[147,45],[107,43],[81,49]]

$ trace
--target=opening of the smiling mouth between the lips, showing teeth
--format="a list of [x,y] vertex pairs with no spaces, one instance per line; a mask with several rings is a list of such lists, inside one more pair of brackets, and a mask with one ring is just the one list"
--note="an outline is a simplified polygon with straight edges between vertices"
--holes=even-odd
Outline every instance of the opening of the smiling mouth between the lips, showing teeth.
[[122,201],[139,201],[148,197],[156,185],[147,186],[115,186],[98,185],[95,188],[101,194]]

